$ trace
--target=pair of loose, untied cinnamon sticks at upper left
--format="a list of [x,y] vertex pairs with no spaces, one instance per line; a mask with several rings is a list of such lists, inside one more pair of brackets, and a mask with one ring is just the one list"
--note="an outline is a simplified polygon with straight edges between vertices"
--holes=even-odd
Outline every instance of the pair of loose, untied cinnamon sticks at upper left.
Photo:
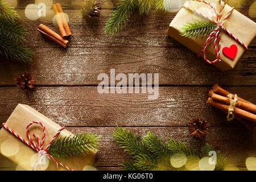
[[66,39],[72,35],[71,30],[68,26],[68,21],[65,18],[60,3],[53,4],[52,8],[55,14],[57,26],[60,30],[60,35],[45,26],[44,24],[39,25],[38,31],[41,32],[43,35],[46,35],[49,39],[52,39],[57,44],[60,44],[60,46],[66,48],[69,44],[69,41]]

